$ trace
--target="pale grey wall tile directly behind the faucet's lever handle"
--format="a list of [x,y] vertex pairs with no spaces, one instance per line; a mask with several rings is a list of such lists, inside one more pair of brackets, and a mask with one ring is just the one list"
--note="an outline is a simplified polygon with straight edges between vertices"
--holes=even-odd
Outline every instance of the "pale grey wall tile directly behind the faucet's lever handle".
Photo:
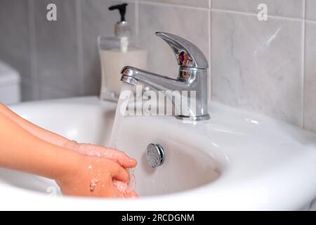
[[176,77],[178,64],[168,44],[154,35],[170,32],[202,49],[209,59],[209,10],[140,3],[140,43],[148,50],[148,69]]

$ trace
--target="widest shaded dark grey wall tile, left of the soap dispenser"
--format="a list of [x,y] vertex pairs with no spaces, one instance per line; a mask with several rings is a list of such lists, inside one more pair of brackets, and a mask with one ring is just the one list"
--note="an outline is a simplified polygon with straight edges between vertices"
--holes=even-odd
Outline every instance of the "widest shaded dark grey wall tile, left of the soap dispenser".
[[[57,21],[46,19],[46,6],[57,5]],[[78,65],[76,0],[34,0],[37,77],[41,82],[77,91]]]

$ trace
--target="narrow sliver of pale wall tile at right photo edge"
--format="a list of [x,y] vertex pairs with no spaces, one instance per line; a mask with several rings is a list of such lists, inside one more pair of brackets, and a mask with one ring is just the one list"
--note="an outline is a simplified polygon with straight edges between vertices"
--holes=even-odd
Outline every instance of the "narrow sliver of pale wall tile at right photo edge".
[[316,23],[306,23],[303,127],[316,133]]

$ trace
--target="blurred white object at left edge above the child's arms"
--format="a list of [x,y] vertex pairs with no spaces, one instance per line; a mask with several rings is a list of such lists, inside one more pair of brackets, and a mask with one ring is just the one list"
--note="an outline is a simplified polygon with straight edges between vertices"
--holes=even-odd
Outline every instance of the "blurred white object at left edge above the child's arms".
[[20,96],[19,72],[0,60],[0,102],[19,103]]

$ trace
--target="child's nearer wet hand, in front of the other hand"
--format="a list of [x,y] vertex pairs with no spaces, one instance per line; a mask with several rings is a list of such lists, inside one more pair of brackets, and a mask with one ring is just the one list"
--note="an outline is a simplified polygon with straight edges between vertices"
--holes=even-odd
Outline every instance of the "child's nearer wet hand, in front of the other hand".
[[107,158],[80,155],[56,182],[65,195],[90,197],[135,197],[128,189],[119,189],[117,182],[129,184],[129,173]]

